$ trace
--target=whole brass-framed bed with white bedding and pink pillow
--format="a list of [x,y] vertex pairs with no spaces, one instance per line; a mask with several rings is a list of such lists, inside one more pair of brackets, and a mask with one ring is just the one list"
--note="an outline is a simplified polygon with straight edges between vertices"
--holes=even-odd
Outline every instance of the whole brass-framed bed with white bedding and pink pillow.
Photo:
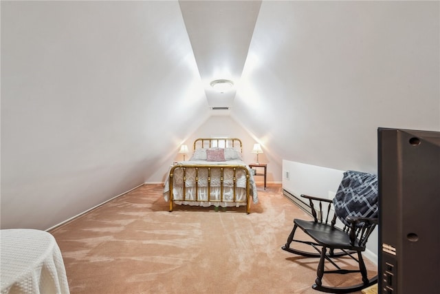
[[175,162],[168,171],[164,198],[174,204],[201,207],[245,206],[258,202],[250,167],[243,162],[238,138],[198,138],[190,160]]

